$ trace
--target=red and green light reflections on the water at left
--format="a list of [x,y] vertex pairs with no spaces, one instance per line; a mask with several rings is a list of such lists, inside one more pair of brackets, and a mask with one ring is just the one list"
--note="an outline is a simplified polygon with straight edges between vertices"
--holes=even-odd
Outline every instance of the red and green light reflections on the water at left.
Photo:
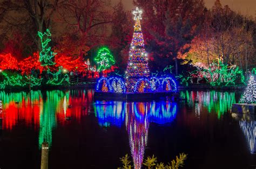
[[[70,97],[71,96],[71,97]],[[78,120],[82,113],[90,111],[93,91],[30,91],[8,93],[0,91],[3,103],[3,130],[13,130],[18,123],[39,130],[38,147],[44,141],[52,144],[52,131],[65,123],[66,117],[74,116]],[[83,105],[85,103],[86,105]],[[71,108],[72,105],[76,105]],[[71,112],[72,111],[72,112]]]

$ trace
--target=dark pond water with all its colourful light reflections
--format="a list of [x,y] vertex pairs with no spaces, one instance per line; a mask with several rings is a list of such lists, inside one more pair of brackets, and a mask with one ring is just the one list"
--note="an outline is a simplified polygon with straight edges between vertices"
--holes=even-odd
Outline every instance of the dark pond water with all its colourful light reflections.
[[147,156],[168,163],[182,152],[184,168],[256,168],[254,117],[230,112],[240,93],[180,96],[125,103],[93,100],[93,90],[0,92],[0,168],[39,168],[43,141],[49,168],[117,168],[126,153],[139,168]]

